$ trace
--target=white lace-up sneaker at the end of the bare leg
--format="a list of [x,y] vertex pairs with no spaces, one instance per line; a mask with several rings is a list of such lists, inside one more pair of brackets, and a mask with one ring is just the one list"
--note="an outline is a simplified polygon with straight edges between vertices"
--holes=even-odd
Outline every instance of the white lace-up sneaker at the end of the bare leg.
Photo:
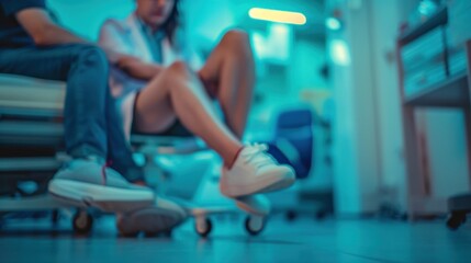
[[280,165],[266,152],[266,145],[245,146],[231,169],[223,168],[221,193],[240,197],[287,188],[294,183],[294,170]]

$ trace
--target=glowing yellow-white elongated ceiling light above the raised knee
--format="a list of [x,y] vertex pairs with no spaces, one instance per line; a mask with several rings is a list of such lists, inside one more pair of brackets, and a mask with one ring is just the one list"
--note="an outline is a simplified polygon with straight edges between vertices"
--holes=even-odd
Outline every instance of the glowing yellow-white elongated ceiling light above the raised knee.
[[272,9],[253,8],[248,11],[251,19],[265,20],[285,24],[303,25],[306,23],[306,16],[298,12],[288,12]]

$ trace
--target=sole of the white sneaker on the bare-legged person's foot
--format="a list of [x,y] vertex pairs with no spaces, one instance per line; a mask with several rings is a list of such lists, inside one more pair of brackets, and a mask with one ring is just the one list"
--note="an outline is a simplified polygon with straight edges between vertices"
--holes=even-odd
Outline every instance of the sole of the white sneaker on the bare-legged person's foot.
[[295,176],[294,174],[287,173],[278,178],[271,178],[268,180],[255,182],[248,186],[232,186],[225,187],[220,183],[221,193],[227,197],[236,198],[247,195],[269,193],[274,191],[280,191],[288,188],[294,184]]

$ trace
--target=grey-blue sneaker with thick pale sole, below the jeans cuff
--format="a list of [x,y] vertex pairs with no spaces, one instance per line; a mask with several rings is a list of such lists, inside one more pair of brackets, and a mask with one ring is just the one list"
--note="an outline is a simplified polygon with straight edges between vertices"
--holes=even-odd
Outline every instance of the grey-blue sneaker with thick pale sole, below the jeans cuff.
[[51,180],[49,193],[74,204],[91,205],[106,211],[127,211],[154,203],[154,192],[127,182],[97,160],[75,159]]

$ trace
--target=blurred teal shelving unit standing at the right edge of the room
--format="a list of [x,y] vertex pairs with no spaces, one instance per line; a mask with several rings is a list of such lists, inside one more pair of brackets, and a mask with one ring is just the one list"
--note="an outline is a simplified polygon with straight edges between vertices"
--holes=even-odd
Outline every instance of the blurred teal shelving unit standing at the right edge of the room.
[[[396,43],[405,140],[407,214],[412,220],[423,215],[442,214],[448,210],[447,199],[434,198],[430,193],[431,179],[425,172],[426,167],[422,161],[426,152],[420,148],[416,128],[417,108],[455,107],[463,111],[468,167],[471,168],[471,42],[467,43],[466,52],[461,53],[462,59],[467,61],[466,67],[459,71],[455,68],[450,70],[452,64],[447,24],[448,10],[444,8],[425,23],[402,34]],[[423,48],[430,45],[434,50]],[[408,64],[414,64],[414,67]],[[471,182],[471,173],[469,176]]]

